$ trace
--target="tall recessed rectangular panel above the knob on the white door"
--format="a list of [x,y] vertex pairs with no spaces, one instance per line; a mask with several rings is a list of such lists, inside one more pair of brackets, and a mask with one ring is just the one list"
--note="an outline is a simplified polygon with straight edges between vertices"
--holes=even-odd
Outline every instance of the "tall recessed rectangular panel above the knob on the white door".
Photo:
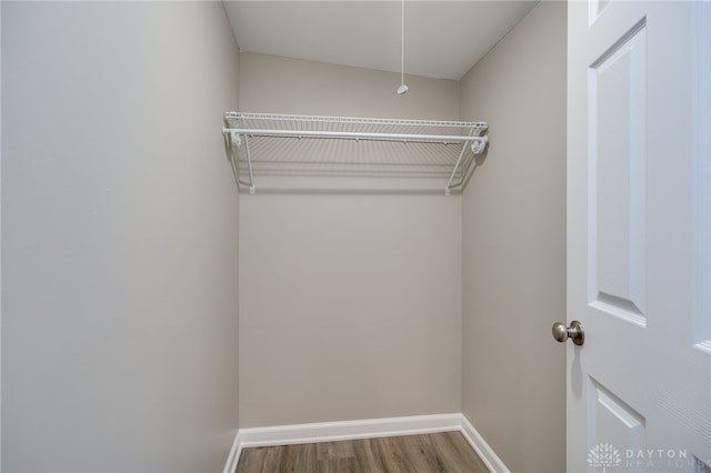
[[[644,22],[589,68],[591,301],[644,326],[647,238]],[[603,185],[599,185],[599,183]]]

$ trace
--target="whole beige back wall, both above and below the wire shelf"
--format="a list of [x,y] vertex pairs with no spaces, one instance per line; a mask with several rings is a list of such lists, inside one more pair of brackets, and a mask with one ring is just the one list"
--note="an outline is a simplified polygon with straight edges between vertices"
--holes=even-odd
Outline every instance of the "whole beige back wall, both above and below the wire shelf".
[[[398,95],[399,79],[242,53],[240,101],[459,118],[457,82],[408,78]],[[461,411],[459,195],[258,190],[240,208],[242,426]]]

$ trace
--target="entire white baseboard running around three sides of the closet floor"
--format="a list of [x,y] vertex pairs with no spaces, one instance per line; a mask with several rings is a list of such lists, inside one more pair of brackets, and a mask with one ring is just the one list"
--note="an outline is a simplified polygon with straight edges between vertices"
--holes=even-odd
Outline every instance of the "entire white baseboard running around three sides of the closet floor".
[[510,473],[467,417],[459,413],[240,429],[224,465],[224,473],[234,472],[242,449],[250,446],[293,445],[452,431],[462,432],[489,470],[494,473]]

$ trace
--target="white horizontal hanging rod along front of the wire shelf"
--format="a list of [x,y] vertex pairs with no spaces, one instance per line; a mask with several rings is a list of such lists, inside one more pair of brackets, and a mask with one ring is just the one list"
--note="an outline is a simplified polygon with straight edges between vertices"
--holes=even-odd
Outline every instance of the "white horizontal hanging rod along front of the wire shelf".
[[397,140],[397,141],[432,141],[461,144],[464,141],[485,143],[487,137],[465,137],[454,134],[405,134],[405,133],[369,133],[359,131],[317,131],[317,130],[256,130],[247,128],[223,128],[223,133],[248,134],[250,137],[291,137],[291,138],[344,138],[353,140]]

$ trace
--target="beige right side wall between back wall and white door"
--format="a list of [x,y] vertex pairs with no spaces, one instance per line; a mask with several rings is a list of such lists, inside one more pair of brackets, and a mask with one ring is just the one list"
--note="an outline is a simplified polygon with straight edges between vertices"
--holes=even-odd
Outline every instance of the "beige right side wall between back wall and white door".
[[513,471],[565,467],[564,2],[541,2],[462,80],[491,145],[462,197],[463,413]]

